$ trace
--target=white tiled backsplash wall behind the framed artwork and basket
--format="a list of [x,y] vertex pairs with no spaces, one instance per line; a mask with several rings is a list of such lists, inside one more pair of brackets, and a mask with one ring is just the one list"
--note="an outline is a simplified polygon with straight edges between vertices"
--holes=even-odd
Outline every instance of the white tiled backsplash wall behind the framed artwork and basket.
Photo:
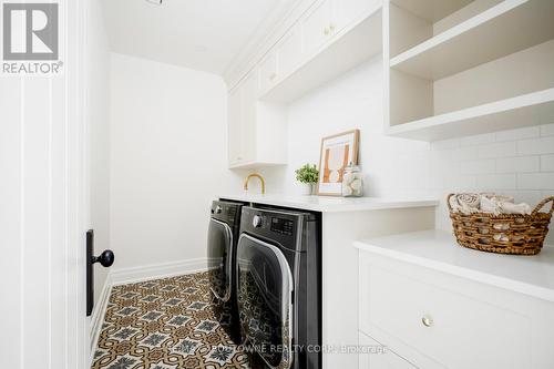
[[360,129],[366,194],[437,196],[440,228],[450,229],[451,191],[506,193],[532,206],[554,194],[554,124],[433,143],[388,137],[381,68],[377,57],[289,105],[289,165],[264,171],[273,192],[299,193],[294,170],[319,163],[321,137]]

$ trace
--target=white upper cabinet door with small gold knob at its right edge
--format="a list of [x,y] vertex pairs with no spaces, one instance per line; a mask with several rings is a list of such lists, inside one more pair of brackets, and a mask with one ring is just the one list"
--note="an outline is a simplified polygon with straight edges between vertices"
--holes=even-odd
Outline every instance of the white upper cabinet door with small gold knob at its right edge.
[[308,58],[330,39],[330,20],[331,0],[316,2],[301,19],[304,50]]

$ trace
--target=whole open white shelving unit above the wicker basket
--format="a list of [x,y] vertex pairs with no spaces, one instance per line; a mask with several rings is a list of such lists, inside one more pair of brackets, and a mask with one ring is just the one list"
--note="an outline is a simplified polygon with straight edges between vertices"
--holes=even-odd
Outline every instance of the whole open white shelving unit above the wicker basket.
[[390,0],[387,134],[437,141],[554,120],[554,0]]

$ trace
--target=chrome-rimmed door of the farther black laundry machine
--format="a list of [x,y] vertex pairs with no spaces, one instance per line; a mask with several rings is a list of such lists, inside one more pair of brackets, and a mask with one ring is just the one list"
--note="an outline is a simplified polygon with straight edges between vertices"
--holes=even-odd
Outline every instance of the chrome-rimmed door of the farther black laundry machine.
[[208,228],[208,275],[212,293],[218,299],[230,298],[233,232],[219,221],[211,219]]

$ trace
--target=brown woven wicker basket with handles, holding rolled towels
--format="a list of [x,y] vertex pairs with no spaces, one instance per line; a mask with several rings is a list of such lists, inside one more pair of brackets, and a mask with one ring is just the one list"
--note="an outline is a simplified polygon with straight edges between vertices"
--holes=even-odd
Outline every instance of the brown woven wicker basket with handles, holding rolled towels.
[[[538,203],[530,215],[454,213],[450,206],[452,196],[454,194],[448,196],[447,204],[455,238],[461,246],[513,255],[535,255],[541,252],[554,211],[554,196]],[[550,212],[542,213],[541,209],[548,203],[552,203]]]

